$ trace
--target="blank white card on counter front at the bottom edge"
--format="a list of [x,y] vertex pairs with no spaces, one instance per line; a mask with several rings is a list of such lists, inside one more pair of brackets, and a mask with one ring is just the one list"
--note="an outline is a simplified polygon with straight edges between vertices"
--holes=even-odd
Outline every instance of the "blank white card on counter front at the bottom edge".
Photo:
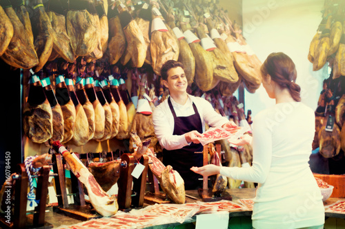
[[195,229],[214,228],[215,222],[217,222],[217,228],[228,228],[228,212],[197,215],[197,223],[195,225]]

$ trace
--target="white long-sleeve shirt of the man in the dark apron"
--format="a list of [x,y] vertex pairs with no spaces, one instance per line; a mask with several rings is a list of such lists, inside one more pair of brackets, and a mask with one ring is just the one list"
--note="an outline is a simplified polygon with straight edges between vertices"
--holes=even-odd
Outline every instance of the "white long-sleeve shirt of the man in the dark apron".
[[[194,97],[188,94],[188,100],[184,105],[175,102],[171,97],[170,99],[177,117],[194,115],[194,102],[200,115],[203,132],[205,131],[205,123],[208,123],[212,127],[218,127],[228,122],[226,117],[222,117],[215,112],[212,105],[201,97]],[[155,108],[152,114],[152,120],[155,134],[163,148],[166,148],[166,150],[176,150],[188,146],[184,135],[172,135],[175,121],[169,108],[168,99],[164,100],[163,103]]]

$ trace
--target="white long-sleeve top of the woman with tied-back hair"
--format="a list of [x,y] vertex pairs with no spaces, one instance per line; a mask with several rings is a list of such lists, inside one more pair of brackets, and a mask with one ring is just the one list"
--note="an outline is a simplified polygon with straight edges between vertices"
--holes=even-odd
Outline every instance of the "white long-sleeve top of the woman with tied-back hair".
[[324,223],[324,205],[308,161],[315,115],[303,103],[278,103],[253,119],[253,164],[222,167],[221,175],[259,183],[254,228],[302,228]]

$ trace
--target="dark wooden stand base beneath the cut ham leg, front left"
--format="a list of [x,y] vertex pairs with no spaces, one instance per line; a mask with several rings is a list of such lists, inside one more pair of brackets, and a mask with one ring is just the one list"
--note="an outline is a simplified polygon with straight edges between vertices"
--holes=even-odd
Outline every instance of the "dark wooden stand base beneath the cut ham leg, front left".
[[[87,205],[86,206],[68,206],[67,208],[54,206],[53,210],[54,212],[64,214],[74,219],[79,219],[81,221],[101,218],[100,215],[96,214],[95,210],[91,210]],[[95,212],[95,214],[92,214],[92,211]]]

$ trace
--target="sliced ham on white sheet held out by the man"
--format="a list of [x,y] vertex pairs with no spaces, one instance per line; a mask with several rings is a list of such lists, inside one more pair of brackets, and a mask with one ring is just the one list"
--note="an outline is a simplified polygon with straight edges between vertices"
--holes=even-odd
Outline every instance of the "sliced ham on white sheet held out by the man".
[[199,141],[204,146],[210,142],[221,139],[238,139],[248,131],[250,131],[248,126],[237,126],[236,128],[210,128],[204,132],[203,137],[199,138]]

